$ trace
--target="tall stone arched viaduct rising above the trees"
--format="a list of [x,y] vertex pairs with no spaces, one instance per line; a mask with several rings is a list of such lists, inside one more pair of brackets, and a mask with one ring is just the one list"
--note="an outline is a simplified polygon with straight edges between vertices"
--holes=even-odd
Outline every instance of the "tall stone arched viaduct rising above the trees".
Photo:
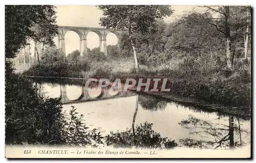
[[105,28],[91,28],[91,27],[81,27],[81,26],[58,26],[58,48],[61,48],[61,51],[66,55],[65,49],[65,34],[68,31],[74,31],[78,34],[80,38],[80,56],[83,54],[87,55],[87,42],[86,36],[89,32],[95,32],[99,36],[99,48],[100,51],[104,52],[105,56],[108,55],[106,50],[106,35],[108,33],[114,33],[119,41],[120,34],[125,32],[124,30],[114,30],[114,29],[105,29]]

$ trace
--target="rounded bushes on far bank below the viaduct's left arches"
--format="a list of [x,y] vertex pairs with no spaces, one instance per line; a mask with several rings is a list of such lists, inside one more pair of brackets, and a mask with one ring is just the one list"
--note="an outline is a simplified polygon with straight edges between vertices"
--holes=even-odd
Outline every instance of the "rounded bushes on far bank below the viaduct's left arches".
[[41,65],[34,65],[24,73],[30,76],[82,77],[88,69],[87,59],[80,56],[78,50],[66,58],[61,50],[49,47],[42,55]]

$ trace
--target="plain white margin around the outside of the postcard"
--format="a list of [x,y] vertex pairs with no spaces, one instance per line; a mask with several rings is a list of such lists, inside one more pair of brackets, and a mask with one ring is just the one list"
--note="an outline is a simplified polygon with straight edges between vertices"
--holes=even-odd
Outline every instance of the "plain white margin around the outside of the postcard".
[[[70,0],[61,0],[61,1],[56,1],[56,0],[45,0],[45,1],[6,1],[5,3],[3,3],[2,5],[1,1],[1,22],[3,23],[3,25],[1,25],[1,44],[2,46],[1,51],[1,62],[2,64],[0,64],[1,66],[1,71],[0,71],[0,75],[1,75],[1,86],[0,87],[0,92],[1,92],[1,109],[2,109],[2,114],[1,114],[1,151],[0,151],[0,158],[1,158],[1,162],[7,162],[7,159],[3,159],[5,158],[5,6],[4,5],[42,5],[42,4],[52,4],[52,5],[252,5],[252,7],[255,7],[255,1],[248,1],[248,0],[243,0],[243,1],[238,1],[238,0],[233,0],[233,1],[223,1],[223,0],[215,0],[215,1],[199,1],[199,0],[194,0],[194,1],[185,1],[185,0],[179,0],[179,1],[163,1],[163,0],[158,0],[158,1],[136,1],[136,0],[130,0],[130,1],[120,1],[120,0],[113,0],[113,1],[103,1],[103,0],[94,0],[94,1],[84,1],[84,0],[80,0],[80,1],[70,1]],[[255,11],[253,11],[253,22],[255,20],[255,16],[254,16]],[[253,23],[253,34],[255,33],[254,31],[254,23]],[[253,35],[254,36],[254,35]],[[253,47],[254,47],[255,43],[253,41]],[[253,49],[254,52],[254,49]],[[254,53],[253,53],[254,55]],[[253,57],[253,63],[255,63],[255,56]],[[255,71],[253,71],[253,75],[255,75]],[[255,84],[255,80],[253,82],[253,84]],[[253,91],[255,90],[255,88],[253,89]],[[255,97],[255,95],[254,95]],[[254,98],[253,100],[254,101]],[[252,108],[253,110],[254,108]],[[253,111],[253,117],[255,117],[255,112]],[[253,124],[254,126],[254,124]],[[253,131],[255,131],[255,126],[253,127]],[[253,141],[253,146],[255,145],[255,141]],[[255,146],[254,146],[255,147]],[[255,149],[253,150],[253,155],[255,156]],[[15,160],[18,161],[18,160]],[[24,160],[27,161],[27,160]],[[35,161],[35,160],[30,160],[30,161]],[[54,162],[55,160],[36,160],[36,161],[47,161],[47,162]],[[62,160],[61,160],[62,161]],[[72,160],[72,162],[75,161],[79,161],[79,160]],[[91,161],[91,160],[89,160]],[[99,160],[97,160],[99,161]],[[110,162],[113,160],[101,160],[104,162]],[[118,160],[121,161],[121,160]],[[138,160],[132,160],[133,162],[137,162]],[[141,161],[141,160],[140,160]],[[147,161],[147,160],[144,160]],[[157,161],[157,160],[155,160]],[[180,162],[181,160],[170,160],[170,161],[174,161],[174,162]],[[184,160],[183,160],[184,161]],[[185,160],[186,161],[186,160]],[[194,160],[194,161],[200,161],[200,160]],[[205,160],[204,160],[205,161]],[[208,161],[208,160],[207,160]],[[215,160],[218,162],[226,162],[226,161],[233,161],[233,160]]]

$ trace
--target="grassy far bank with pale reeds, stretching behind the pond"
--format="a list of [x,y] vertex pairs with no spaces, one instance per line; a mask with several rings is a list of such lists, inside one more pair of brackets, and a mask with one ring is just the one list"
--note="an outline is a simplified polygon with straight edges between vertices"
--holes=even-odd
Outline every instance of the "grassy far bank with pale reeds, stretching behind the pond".
[[[124,59],[93,61],[86,71],[75,70],[77,72],[73,72],[69,70],[65,73],[60,73],[57,71],[59,69],[54,69],[54,65],[52,65],[50,69],[54,71],[52,73],[49,73],[47,67],[40,69],[35,67],[24,74],[27,76],[56,77],[55,79],[62,83],[67,83],[62,78],[68,77],[68,83],[71,85],[84,83],[85,80],[82,81],[82,78],[107,78],[112,82],[116,78],[120,78],[122,83],[125,83],[127,78],[134,78],[137,82],[139,78],[143,78],[143,80],[167,78],[168,87],[171,89],[169,95],[204,100],[209,103],[220,103],[228,107],[246,107],[250,110],[250,62],[236,64],[233,70],[229,70],[222,62],[217,62],[214,59],[204,62],[204,58],[191,57],[186,61],[172,59],[158,66],[141,65],[138,72],[133,68],[132,62],[131,58],[128,58],[127,61]],[[76,78],[80,78],[80,81],[78,82]]]

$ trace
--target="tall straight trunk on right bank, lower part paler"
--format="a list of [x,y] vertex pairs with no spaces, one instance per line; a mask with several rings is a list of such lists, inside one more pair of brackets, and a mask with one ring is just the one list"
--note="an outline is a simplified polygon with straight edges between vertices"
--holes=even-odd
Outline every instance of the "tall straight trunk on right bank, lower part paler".
[[225,10],[225,35],[226,35],[226,57],[227,67],[232,70],[231,64],[231,41],[230,41],[230,17],[229,17],[229,6],[224,6]]

